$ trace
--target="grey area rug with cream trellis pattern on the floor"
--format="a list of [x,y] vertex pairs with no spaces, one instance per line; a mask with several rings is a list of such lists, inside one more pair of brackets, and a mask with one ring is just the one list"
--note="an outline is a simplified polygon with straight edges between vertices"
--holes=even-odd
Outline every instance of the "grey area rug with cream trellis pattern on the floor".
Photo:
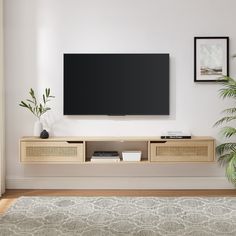
[[21,197],[1,236],[236,236],[233,197]]

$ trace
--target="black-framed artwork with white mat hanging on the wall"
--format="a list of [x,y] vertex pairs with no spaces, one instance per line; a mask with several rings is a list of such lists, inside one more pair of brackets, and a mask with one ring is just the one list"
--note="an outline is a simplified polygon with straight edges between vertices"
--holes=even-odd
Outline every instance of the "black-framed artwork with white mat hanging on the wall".
[[229,76],[229,37],[194,37],[194,82]]

